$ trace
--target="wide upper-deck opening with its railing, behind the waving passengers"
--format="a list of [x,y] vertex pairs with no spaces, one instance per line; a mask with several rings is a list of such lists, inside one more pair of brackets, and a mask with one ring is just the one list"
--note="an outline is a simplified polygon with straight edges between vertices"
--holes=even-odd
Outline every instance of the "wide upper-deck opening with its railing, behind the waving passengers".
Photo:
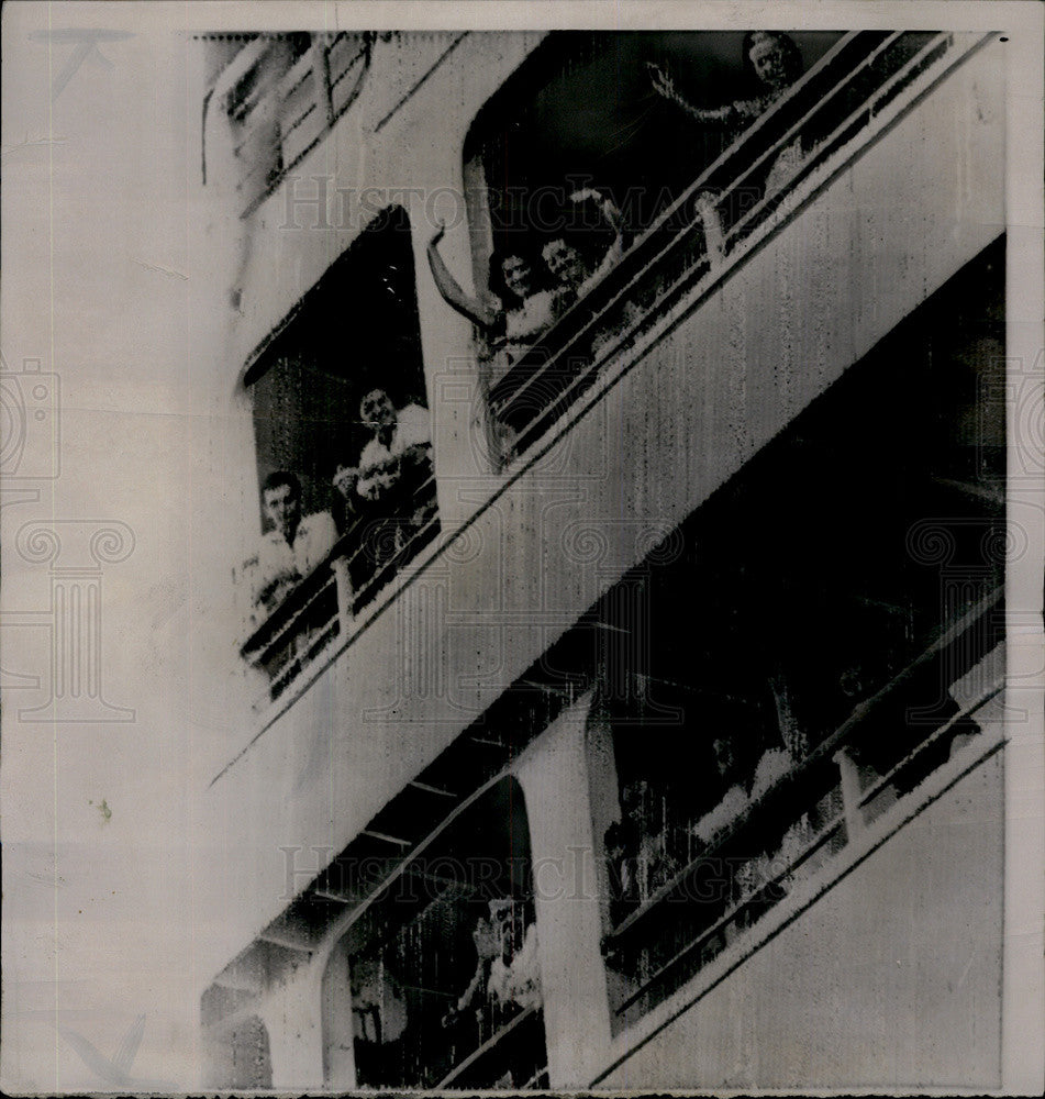
[[[522,325],[529,348],[487,368],[505,458],[956,48],[932,32],[761,33],[790,58],[771,89],[740,33],[552,35],[477,116],[464,151],[475,285],[497,285],[491,255],[523,255],[556,296],[549,322]],[[599,201],[578,200],[586,189]]]

